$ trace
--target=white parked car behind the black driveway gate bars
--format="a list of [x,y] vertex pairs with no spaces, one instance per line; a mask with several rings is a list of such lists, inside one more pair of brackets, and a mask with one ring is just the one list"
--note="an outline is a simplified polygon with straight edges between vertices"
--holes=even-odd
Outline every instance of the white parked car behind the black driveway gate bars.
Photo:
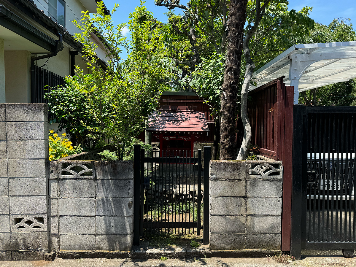
[[355,153],[308,153],[307,199],[354,200],[355,168]]

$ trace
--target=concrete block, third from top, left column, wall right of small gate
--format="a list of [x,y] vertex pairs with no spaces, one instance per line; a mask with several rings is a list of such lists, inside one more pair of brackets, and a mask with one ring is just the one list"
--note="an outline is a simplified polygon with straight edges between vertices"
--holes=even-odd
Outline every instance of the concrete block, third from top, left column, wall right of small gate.
[[245,215],[246,199],[210,197],[211,215]]

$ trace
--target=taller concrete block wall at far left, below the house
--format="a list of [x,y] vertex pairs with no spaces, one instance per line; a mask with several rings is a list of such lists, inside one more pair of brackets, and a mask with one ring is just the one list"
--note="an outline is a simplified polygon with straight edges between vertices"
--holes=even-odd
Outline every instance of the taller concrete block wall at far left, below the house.
[[48,252],[46,104],[0,104],[0,261]]

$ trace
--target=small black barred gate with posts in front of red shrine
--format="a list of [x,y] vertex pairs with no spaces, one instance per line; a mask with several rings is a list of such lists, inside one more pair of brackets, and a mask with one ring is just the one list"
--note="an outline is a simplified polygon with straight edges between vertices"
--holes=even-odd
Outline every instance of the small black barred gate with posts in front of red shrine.
[[210,150],[204,147],[203,169],[201,150],[159,152],[134,146],[134,244],[157,231],[200,235],[201,229],[208,244]]

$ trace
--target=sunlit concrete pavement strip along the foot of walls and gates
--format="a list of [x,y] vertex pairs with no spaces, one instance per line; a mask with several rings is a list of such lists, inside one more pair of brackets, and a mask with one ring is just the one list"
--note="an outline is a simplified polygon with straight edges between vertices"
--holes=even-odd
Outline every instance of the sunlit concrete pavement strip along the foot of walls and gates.
[[316,256],[293,261],[288,265],[267,258],[192,258],[161,260],[80,258],[49,261],[0,262],[0,267],[354,267],[356,257]]

